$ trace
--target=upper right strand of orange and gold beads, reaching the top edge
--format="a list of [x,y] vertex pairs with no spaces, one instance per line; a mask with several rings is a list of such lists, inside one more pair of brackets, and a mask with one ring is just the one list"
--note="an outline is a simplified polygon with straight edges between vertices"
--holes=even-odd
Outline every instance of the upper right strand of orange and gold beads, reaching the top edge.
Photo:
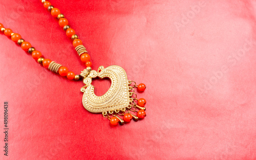
[[44,7],[46,9],[48,9],[49,12],[51,12],[51,15],[54,18],[58,18],[59,26],[61,26],[61,28],[63,28],[63,30],[66,31],[67,37],[69,37],[73,40],[73,46],[75,47],[75,49],[78,46],[80,46],[80,47],[82,46],[82,48],[84,48],[84,49],[80,49],[79,52],[77,51],[78,56],[80,57],[80,59],[83,63],[86,63],[87,67],[91,67],[92,62],[91,62],[91,58],[88,54],[88,51],[82,45],[82,41],[80,39],[78,39],[78,36],[76,35],[75,30],[70,27],[68,19],[66,19],[65,16],[60,13],[58,8],[54,8],[50,2],[41,0],[41,3],[44,5]]

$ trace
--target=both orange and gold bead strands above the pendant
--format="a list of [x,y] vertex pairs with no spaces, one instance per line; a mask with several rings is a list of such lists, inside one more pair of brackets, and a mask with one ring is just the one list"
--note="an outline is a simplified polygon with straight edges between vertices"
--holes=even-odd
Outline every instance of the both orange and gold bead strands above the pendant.
[[[59,25],[66,32],[67,37],[73,40],[73,46],[75,47],[75,50],[77,51],[77,54],[80,57],[81,61],[83,63],[86,63],[86,66],[88,68],[91,68],[92,62],[90,61],[90,55],[88,54],[86,48],[82,45],[82,41],[78,39],[75,30],[71,29],[70,25],[68,25],[68,19],[66,19],[65,16],[60,13],[59,9],[54,8],[50,2],[46,0],[41,0],[41,3],[44,4],[44,7],[48,9],[49,12],[51,12],[51,15],[54,18],[58,18]],[[6,36],[11,37],[13,42],[20,45],[24,51],[28,51],[29,54],[32,55],[32,58],[45,68],[48,68],[49,70],[58,73],[61,76],[67,76],[67,78],[71,80],[78,80],[80,78],[79,75],[75,75],[74,72],[69,71],[67,67],[55,63],[50,59],[45,59],[39,50],[36,50],[29,42],[22,39],[22,36],[20,36],[18,33],[13,33],[11,29],[5,29],[2,23],[0,23],[0,29],[2,32],[4,32]]]

